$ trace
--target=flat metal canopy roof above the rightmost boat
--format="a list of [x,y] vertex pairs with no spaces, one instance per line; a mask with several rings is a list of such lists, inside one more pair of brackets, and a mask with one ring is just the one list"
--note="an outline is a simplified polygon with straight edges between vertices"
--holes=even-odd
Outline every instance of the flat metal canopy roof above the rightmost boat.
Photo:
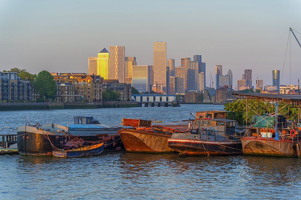
[[264,93],[238,93],[232,92],[236,99],[256,99],[267,102],[300,104],[301,95],[295,94],[264,94]]

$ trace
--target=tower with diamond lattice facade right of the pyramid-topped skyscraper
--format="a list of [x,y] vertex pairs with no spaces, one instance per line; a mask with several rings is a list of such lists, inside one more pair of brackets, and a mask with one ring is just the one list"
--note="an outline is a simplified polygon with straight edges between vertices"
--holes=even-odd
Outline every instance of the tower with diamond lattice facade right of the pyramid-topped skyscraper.
[[109,79],[125,82],[124,76],[124,46],[110,46]]

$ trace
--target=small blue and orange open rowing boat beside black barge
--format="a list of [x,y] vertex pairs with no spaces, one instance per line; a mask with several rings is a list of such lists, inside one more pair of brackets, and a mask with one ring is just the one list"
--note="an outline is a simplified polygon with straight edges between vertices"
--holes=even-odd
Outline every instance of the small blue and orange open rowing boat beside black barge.
[[63,157],[63,158],[95,156],[95,155],[102,154],[103,151],[104,151],[104,143],[100,143],[97,145],[91,145],[91,146],[77,148],[77,149],[70,149],[64,151],[52,151],[52,156]]

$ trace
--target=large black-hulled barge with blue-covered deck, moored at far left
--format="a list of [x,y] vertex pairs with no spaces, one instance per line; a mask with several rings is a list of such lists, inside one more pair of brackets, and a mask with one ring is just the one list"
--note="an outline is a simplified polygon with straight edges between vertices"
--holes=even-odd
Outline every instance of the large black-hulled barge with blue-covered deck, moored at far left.
[[120,124],[99,124],[93,117],[74,117],[74,124],[29,124],[17,128],[17,147],[23,156],[52,156],[52,151],[71,150],[104,143],[104,152],[124,150],[118,135]]

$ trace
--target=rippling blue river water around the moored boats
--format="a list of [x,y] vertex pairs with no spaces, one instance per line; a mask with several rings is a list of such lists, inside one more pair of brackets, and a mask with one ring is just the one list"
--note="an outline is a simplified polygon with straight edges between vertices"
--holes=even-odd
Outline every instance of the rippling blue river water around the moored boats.
[[[101,123],[122,117],[180,121],[220,105],[0,112],[0,127],[73,124],[73,116]],[[1,132],[1,134],[3,134]],[[0,199],[301,199],[301,159],[252,156],[187,157],[126,151],[95,157],[0,156]]]

